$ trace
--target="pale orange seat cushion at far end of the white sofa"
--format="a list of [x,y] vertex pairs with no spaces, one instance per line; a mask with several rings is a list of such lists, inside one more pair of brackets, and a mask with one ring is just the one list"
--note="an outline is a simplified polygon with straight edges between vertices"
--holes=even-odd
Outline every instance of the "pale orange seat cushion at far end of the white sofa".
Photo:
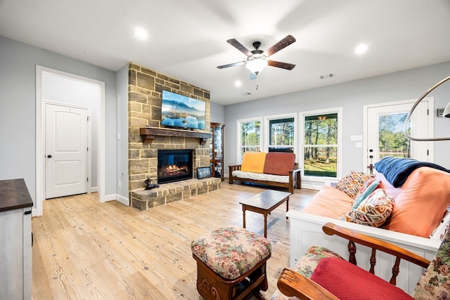
[[324,186],[302,211],[339,220],[341,216],[352,210],[352,206],[352,197],[337,188]]

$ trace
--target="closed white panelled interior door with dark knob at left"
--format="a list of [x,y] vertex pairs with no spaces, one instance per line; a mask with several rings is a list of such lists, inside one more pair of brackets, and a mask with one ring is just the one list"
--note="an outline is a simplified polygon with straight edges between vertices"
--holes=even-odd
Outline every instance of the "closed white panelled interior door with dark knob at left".
[[45,197],[87,193],[88,111],[45,104]]

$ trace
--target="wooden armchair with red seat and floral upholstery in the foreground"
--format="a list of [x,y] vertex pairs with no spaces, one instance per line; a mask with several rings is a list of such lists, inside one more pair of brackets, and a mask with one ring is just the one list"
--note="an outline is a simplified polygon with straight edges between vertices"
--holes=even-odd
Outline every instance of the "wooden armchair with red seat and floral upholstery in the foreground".
[[[323,232],[327,235],[338,235],[352,242],[349,248],[349,259],[333,252],[333,249],[311,247],[295,268],[284,268],[278,278],[278,289],[271,300],[292,299],[449,299],[448,281],[450,273],[450,231],[446,234],[433,261],[424,259],[406,249],[382,240],[354,233],[352,230],[327,223]],[[371,259],[370,269],[360,268],[352,254],[358,252],[360,245],[373,249],[373,253],[386,252],[392,254],[391,261]],[[397,273],[397,266],[404,261],[426,268],[417,282],[414,294],[406,294],[396,287],[399,278],[407,274]],[[394,262],[394,263],[392,263]],[[392,278],[389,282],[375,274],[377,263],[392,266]],[[291,297],[289,297],[291,296]]]

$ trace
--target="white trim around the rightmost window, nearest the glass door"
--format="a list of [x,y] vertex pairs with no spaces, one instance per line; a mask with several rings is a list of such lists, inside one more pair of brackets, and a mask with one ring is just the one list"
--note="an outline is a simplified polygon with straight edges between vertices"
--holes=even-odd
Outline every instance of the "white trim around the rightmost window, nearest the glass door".
[[[299,149],[299,165],[300,168],[302,168],[302,176],[304,176],[304,119],[305,117],[313,116],[313,115],[326,115],[326,114],[338,114],[338,164],[337,164],[337,170],[336,170],[336,177],[335,178],[341,178],[342,177],[342,107],[332,107],[332,108],[326,108],[323,110],[309,110],[305,112],[300,112],[299,122],[300,126],[298,127],[300,129],[300,149]],[[323,178],[334,178],[334,177],[323,177],[323,176],[307,176],[308,179],[314,180],[314,179],[323,179]]]

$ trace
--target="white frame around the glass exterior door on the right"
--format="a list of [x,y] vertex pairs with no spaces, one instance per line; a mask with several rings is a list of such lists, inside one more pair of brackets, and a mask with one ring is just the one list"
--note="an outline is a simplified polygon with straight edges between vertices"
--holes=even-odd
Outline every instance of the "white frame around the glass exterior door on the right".
[[[435,111],[435,98],[434,97],[426,97],[423,98],[423,100],[428,101],[428,136],[433,136],[435,132],[435,122],[433,118],[433,112]],[[368,166],[368,110],[370,108],[374,107],[381,107],[381,106],[390,106],[390,105],[401,105],[401,104],[411,104],[413,105],[416,103],[417,99],[411,99],[411,100],[400,100],[400,101],[392,101],[392,102],[385,102],[385,103],[377,103],[377,104],[371,104],[371,105],[364,105],[364,143],[363,143],[363,152],[364,152],[364,159],[363,159],[363,170],[367,170]],[[420,142],[418,142],[420,143]],[[430,162],[435,161],[435,143],[428,142],[428,150],[429,150],[429,157]]]

